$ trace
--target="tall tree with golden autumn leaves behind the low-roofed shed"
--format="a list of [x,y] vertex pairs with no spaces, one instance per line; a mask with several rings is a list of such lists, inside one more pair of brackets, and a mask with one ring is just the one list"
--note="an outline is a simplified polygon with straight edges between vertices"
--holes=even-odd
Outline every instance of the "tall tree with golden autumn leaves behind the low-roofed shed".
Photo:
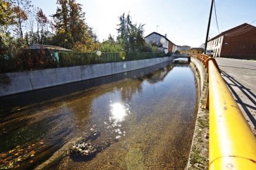
[[82,5],[76,3],[75,0],[58,0],[57,4],[59,7],[53,15],[56,29],[54,44],[74,51],[95,51],[98,47],[95,43],[96,35],[85,23]]

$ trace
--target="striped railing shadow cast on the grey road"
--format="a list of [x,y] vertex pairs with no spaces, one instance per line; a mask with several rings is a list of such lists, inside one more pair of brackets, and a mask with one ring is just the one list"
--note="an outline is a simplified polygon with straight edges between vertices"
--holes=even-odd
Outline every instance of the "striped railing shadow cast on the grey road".
[[[254,116],[252,116],[252,114],[250,113],[248,108],[252,108],[254,110],[256,110],[256,95],[250,91],[250,89],[244,87],[241,83],[239,83],[238,81],[236,81],[236,79],[234,79],[232,76],[229,76],[228,73],[226,73],[225,71],[221,70],[221,73],[223,74],[224,77],[228,78],[229,81],[231,81],[233,84],[228,83],[225,79],[225,83],[227,84],[227,86],[229,87],[229,89],[231,90],[231,92],[233,93],[234,97],[236,97],[236,102],[241,104],[242,109],[244,110],[244,112],[247,114],[247,116],[249,117],[250,121],[252,122],[252,124],[254,124],[254,129],[256,129],[256,119],[254,118]],[[244,95],[254,104],[254,105],[249,105],[247,103],[242,102],[241,98],[239,97],[239,95],[236,94],[236,91],[233,89],[232,86],[236,86],[239,88],[239,90],[241,92],[244,93]],[[253,99],[250,95],[252,95],[255,99]]]

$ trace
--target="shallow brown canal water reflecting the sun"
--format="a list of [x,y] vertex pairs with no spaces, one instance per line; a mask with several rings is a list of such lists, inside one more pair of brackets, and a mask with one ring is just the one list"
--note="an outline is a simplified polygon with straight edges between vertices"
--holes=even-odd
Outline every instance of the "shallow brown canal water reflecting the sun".
[[[197,116],[196,79],[191,64],[166,62],[4,97],[0,168],[184,169]],[[97,149],[74,153],[83,142]]]

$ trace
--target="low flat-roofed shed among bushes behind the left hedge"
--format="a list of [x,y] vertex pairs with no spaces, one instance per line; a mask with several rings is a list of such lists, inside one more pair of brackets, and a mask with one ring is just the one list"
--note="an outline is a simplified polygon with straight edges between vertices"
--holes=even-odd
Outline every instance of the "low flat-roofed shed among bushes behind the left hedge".
[[55,57],[57,60],[59,60],[59,52],[71,52],[70,49],[64,49],[59,46],[49,46],[49,45],[43,45],[43,44],[32,44],[25,48],[24,50],[30,50],[31,55],[45,55],[48,57]]

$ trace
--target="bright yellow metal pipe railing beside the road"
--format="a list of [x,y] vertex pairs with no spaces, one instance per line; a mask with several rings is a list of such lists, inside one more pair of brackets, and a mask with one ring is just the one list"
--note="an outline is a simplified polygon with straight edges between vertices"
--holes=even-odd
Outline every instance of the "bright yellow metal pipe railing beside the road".
[[209,169],[256,169],[256,139],[220,75],[215,59],[192,55],[208,68]]

